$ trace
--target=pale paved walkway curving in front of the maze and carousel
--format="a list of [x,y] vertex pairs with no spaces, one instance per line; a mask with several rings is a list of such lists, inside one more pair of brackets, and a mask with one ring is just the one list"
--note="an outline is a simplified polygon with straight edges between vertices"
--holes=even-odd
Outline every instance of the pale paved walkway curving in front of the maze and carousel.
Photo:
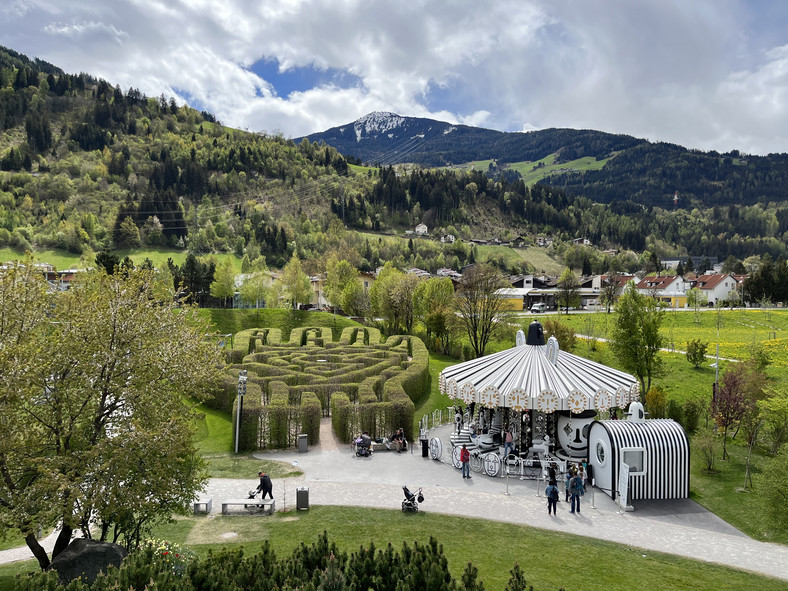
[[[448,429],[440,428],[431,435],[439,435],[448,444]],[[274,481],[277,509],[294,506],[296,488],[308,487],[310,505],[399,510],[402,485],[406,484],[411,490],[423,488],[423,511],[558,530],[788,580],[788,547],[755,541],[690,500],[640,501],[635,503],[635,511],[619,514],[607,495],[596,491],[592,497],[589,491],[583,497],[581,513],[569,514],[567,503],[561,502],[558,515],[549,517],[545,499],[538,496],[533,480],[507,481],[475,473],[471,480],[464,480],[448,463],[422,458],[418,445],[401,454],[377,452],[371,458],[357,458],[348,446],[334,439],[326,419],[321,425],[321,442],[305,454],[260,454],[297,464],[304,471],[298,478]],[[448,456],[445,446],[444,456]],[[213,479],[206,494],[214,500],[213,512],[219,513],[222,499],[243,498],[256,486],[253,475],[244,480]],[[30,557],[26,548],[7,550],[0,552],[0,563]]]

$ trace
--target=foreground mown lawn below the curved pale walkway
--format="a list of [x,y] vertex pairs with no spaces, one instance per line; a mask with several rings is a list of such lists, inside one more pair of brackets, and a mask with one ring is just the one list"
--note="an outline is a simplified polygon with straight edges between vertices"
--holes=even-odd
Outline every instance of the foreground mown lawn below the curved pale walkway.
[[[346,552],[373,542],[427,542],[433,536],[443,545],[455,578],[469,561],[479,569],[486,589],[503,589],[515,563],[534,589],[788,589],[788,583],[731,568],[643,551],[611,542],[544,531],[526,526],[436,515],[429,512],[355,507],[314,506],[309,511],[278,513],[274,517],[189,517],[163,527],[173,542],[201,555],[209,550],[242,545],[254,552],[269,540],[277,556],[284,557],[304,542],[311,544],[326,530],[329,541]],[[231,538],[226,537],[228,534]],[[0,587],[9,570],[34,568],[32,562],[0,567]],[[657,585],[655,586],[655,583]]]

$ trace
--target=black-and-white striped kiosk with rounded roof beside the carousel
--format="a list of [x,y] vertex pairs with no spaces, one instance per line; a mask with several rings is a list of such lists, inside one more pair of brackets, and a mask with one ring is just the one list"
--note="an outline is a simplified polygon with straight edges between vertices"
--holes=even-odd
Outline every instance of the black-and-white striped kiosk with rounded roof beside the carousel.
[[629,466],[628,499],[689,497],[689,440],[672,419],[646,419],[640,402],[626,420],[594,421],[588,432],[588,461],[595,485],[615,499],[621,464]]

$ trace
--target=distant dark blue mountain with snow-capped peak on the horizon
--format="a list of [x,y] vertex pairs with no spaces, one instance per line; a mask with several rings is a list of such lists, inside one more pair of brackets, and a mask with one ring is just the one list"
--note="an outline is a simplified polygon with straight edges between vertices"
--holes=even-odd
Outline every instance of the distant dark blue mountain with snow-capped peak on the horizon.
[[[371,164],[443,167],[494,161],[490,173],[509,179],[536,170],[540,174],[531,183],[538,178],[599,203],[684,209],[783,204],[788,186],[788,154],[701,152],[593,130],[512,133],[376,112],[305,137]],[[544,166],[548,158],[551,166]]]

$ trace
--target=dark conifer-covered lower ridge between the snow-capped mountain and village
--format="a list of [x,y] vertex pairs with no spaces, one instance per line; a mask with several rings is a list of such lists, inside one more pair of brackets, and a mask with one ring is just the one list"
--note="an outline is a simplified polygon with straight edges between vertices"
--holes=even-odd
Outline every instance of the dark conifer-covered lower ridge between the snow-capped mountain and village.
[[[392,168],[380,175],[370,200],[390,212],[416,211],[429,225],[467,225],[466,233],[485,239],[512,236],[496,229],[480,204],[516,221],[522,233],[587,237],[604,248],[649,248],[661,256],[689,253],[720,260],[731,255],[745,258],[769,253],[777,258],[788,254],[785,201],[693,209],[650,207],[629,200],[606,205],[561,187],[493,181],[481,172],[421,170],[399,177]],[[364,207],[348,210],[349,222],[358,222],[353,218],[357,212],[363,215]]]

